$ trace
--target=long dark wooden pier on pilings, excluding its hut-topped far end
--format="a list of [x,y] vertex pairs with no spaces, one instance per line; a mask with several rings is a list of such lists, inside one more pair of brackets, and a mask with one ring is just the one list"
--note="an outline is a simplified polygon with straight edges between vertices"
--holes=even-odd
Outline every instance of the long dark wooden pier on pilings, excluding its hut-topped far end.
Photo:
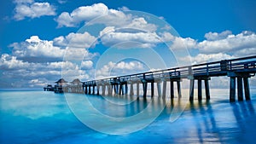
[[[210,100],[209,81],[211,78],[229,77],[230,101],[236,101],[236,89],[238,101],[243,101],[243,94],[248,101],[251,99],[249,78],[256,73],[255,64],[256,55],[232,60],[220,60],[193,66],[180,66],[154,72],[87,81],[82,83],[81,90],[86,95],[127,95],[130,86],[130,95],[135,95],[134,86],[136,85],[137,95],[139,95],[139,87],[142,84],[143,97],[146,97],[148,84],[151,86],[151,96],[154,96],[154,84],[156,84],[158,95],[166,98],[166,83],[170,83],[170,95],[171,98],[174,98],[174,84],[177,84],[178,97],[182,97],[181,83],[183,79],[189,79],[189,101],[194,100],[195,81],[198,84],[198,100],[201,101],[202,82],[205,84],[206,99]],[[106,94],[106,91],[108,91],[108,94]]]

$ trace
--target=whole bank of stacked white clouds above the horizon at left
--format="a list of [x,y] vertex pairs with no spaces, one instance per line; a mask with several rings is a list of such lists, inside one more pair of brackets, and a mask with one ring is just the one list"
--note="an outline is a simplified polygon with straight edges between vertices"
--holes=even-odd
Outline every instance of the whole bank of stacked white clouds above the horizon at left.
[[[0,57],[0,78],[6,81],[0,86],[41,88],[43,84],[52,84],[61,77],[68,81],[74,78],[92,78],[91,60],[98,54],[80,47],[89,47],[94,40],[95,37],[89,33],[72,32],[66,37],[56,37],[54,40],[42,40],[38,36],[32,36],[23,42],[12,43],[9,45],[13,48],[12,54],[3,54]],[[64,56],[70,61],[63,61]],[[81,60],[84,60],[82,64],[79,63]]]

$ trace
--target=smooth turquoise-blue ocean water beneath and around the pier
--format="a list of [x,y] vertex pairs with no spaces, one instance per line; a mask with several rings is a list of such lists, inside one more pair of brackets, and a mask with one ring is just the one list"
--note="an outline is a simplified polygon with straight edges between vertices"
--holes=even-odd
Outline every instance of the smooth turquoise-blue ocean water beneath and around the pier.
[[[201,102],[189,102],[186,97],[182,101],[162,101],[150,97],[3,90],[0,143],[255,143],[255,92],[251,89],[252,101],[230,103],[229,89],[211,89],[211,100]],[[94,110],[90,111],[90,107]],[[145,109],[148,115],[143,115]],[[92,111],[101,112],[106,119]],[[132,119],[138,115],[143,116]],[[116,123],[108,124],[108,118]],[[120,123],[122,118],[131,119]]]

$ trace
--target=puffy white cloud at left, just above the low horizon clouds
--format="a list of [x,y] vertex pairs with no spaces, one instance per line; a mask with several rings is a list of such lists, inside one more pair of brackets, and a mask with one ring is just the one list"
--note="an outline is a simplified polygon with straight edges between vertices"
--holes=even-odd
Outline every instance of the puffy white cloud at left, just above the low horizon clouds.
[[12,43],[12,55],[20,60],[29,62],[45,62],[62,60],[65,55],[68,59],[92,59],[97,54],[91,54],[88,49],[95,46],[96,37],[88,32],[69,33],[66,37],[55,37],[54,40],[42,40],[38,36],[32,36],[24,42]]

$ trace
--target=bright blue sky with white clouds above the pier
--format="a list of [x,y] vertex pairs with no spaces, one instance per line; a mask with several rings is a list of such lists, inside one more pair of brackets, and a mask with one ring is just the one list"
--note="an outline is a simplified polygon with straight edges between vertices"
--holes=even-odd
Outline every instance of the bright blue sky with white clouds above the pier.
[[256,55],[255,8],[253,0],[1,1],[0,88]]

